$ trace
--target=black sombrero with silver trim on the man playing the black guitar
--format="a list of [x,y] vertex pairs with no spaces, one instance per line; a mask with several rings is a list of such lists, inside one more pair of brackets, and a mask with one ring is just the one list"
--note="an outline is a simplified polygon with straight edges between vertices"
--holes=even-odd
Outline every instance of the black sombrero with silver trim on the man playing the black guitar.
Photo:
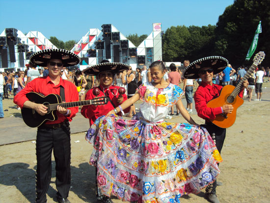
[[77,65],[80,63],[81,58],[68,50],[64,49],[45,49],[32,54],[29,58],[30,62],[38,66],[47,66],[51,59],[62,60],[64,67]]

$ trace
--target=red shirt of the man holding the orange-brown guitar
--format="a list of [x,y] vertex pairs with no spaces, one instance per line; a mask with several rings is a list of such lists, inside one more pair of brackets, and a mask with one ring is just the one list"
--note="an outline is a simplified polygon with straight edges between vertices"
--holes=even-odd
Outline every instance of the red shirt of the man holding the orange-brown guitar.
[[[215,119],[216,115],[222,113],[221,107],[210,108],[207,107],[207,103],[219,96],[222,86],[212,84],[208,85],[201,82],[201,85],[197,88],[194,94],[195,108],[198,116],[203,119]],[[243,97],[243,90],[239,93],[240,97]]]

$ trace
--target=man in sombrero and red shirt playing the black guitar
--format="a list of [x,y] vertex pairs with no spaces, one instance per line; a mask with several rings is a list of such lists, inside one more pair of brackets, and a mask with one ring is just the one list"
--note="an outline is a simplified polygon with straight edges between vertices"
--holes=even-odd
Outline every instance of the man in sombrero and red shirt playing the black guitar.
[[[71,66],[80,62],[80,57],[67,50],[48,49],[36,52],[30,56],[30,62],[40,66],[47,66],[49,76],[36,78],[27,83],[15,97],[14,103],[20,108],[29,108],[41,116],[47,114],[44,104],[37,104],[28,100],[28,92],[43,95],[58,94],[63,101],[79,100],[77,88],[69,81],[62,80],[60,72],[63,66]],[[62,89],[60,91],[60,89]],[[60,93],[61,92],[61,93]],[[64,92],[64,93],[63,93]],[[49,102],[49,101],[48,101]],[[78,107],[65,109],[57,106],[58,119],[46,121],[37,129],[36,138],[36,202],[47,202],[46,193],[52,176],[52,150],[54,149],[56,189],[58,203],[69,203],[67,197],[71,183],[70,172],[70,126],[69,121],[78,113]]]

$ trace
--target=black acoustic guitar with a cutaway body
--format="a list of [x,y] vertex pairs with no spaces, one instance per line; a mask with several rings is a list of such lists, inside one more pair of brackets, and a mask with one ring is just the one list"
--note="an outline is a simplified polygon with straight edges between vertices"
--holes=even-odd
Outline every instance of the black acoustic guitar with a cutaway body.
[[46,120],[57,120],[56,110],[57,105],[69,108],[69,107],[78,107],[78,106],[85,106],[85,105],[103,105],[108,103],[107,97],[96,97],[90,100],[84,101],[76,101],[76,102],[67,102],[62,103],[62,99],[58,94],[48,94],[47,96],[43,96],[36,92],[29,92],[27,93],[27,98],[29,101],[37,103],[37,104],[44,104],[48,107],[48,113],[44,116],[41,116],[33,109],[23,108],[22,109],[22,116],[25,123],[29,127],[38,127]]

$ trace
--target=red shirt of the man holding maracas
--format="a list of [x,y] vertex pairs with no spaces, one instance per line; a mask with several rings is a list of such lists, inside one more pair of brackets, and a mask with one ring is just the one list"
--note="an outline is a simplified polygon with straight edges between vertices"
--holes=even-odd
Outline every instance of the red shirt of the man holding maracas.
[[[88,99],[94,99],[95,97],[101,97],[101,96],[108,96],[110,98],[110,100],[112,101],[112,103],[114,104],[115,107],[118,107],[121,103],[117,102],[117,98],[119,96],[119,92],[118,92],[118,86],[110,86],[108,88],[105,87],[104,92],[103,87],[99,86],[100,88],[100,94],[95,96],[93,94],[93,89],[90,89],[89,91],[87,91],[86,95],[85,95],[85,100]],[[127,100],[127,95],[123,94],[123,102]],[[100,116],[104,116],[107,115],[109,111],[113,110],[114,107],[112,106],[112,104],[110,103],[110,101],[108,101],[107,104],[104,105],[88,105],[88,106],[83,106],[81,108],[81,115],[89,118],[89,123],[90,126],[95,122],[95,120],[100,117]],[[124,110],[125,113],[129,112],[130,108],[127,108]],[[121,113],[118,113],[119,116],[121,116]]]

